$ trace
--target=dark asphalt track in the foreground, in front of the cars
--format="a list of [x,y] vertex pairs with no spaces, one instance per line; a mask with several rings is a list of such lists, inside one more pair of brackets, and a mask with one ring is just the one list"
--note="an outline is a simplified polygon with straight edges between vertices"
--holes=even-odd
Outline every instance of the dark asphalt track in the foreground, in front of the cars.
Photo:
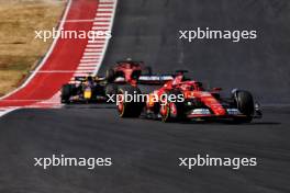
[[[121,120],[113,106],[19,110],[0,121],[0,192],[289,192],[289,109],[247,125]],[[33,167],[34,157],[112,157],[88,170]],[[257,167],[178,167],[179,157],[256,157]]]

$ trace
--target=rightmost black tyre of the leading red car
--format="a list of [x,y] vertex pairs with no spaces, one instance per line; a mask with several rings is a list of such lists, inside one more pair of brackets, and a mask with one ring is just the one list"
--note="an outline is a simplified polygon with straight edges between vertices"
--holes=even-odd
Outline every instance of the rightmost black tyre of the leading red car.
[[236,106],[246,117],[235,117],[236,123],[250,123],[255,111],[253,95],[248,91],[236,91],[234,93]]

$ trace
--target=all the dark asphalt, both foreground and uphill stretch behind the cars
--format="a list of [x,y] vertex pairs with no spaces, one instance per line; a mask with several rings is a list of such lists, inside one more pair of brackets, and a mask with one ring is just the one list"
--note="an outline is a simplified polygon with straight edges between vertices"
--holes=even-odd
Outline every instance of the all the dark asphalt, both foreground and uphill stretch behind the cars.
[[[289,3],[178,2],[122,0],[104,65],[130,56],[148,61],[157,71],[189,68],[198,78],[217,86],[244,86],[255,90],[264,103],[288,102],[289,25],[286,23],[289,12],[286,10]],[[225,20],[228,26],[232,21],[245,26],[252,21],[253,26],[276,31],[263,31],[269,38],[253,44],[177,46],[179,24],[188,27],[191,21],[203,21],[203,25],[214,21],[216,26],[222,26],[221,21],[227,15],[231,15]],[[169,19],[178,19],[179,24]],[[277,31],[276,26],[281,30]],[[174,38],[175,45],[170,44]],[[249,52],[250,48],[254,50]],[[250,58],[248,54],[256,57]],[[180,61],[180,66],[171,60]],[[191,65],[191,60],[197,65]],[[254,76],[257,73],[259,76]],[[290,111],[287,105],[264,107],[263,120],[245,125],[121,120],[113,107],[99,104],[69,105],[60,110],[19,110],[1,117],[0,192],[290,192]],[[92,171],[77,167],[49,170],[33,167],[34,157],[52,157],[53,154],[77,158],[112,157],[113,166]],[[196,167],[192,171],[178,167],[179,157],[194,157],[197,154],[256,157],[258,166],[239,170]]]

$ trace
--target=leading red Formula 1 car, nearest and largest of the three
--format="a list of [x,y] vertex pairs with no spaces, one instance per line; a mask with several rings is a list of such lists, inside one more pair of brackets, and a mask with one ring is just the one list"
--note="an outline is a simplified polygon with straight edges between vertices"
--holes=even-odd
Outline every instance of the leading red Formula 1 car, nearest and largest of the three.
[[[220,88],[205,90],[201,82],[179,73],[160,89],[145,94],[146,101],[140,101],[145,98],[137,87],[122,88],[118,112],[121,117],[138,117],[143,112],[146,117],[163,122],[217,118],[249,123],[261,117],[259,105],[248,91],[234,89],[230,98],[222,98],[220,91]],[[129,94],[138,100],[126,101]]]

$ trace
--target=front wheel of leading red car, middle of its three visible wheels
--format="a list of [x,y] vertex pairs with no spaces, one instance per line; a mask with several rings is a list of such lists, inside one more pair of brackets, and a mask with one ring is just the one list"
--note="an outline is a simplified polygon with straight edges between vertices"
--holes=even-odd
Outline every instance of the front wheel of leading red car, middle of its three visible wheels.
[[183,95],[179,90],[169,91],[167,94],[167,101],[160,104],[160,115],[164,123],[168,122],[181,122],[186,120],[185,103],[179,101],[169,101],[169,95],[175,95],[175,99],[180,99],[179,95]]

